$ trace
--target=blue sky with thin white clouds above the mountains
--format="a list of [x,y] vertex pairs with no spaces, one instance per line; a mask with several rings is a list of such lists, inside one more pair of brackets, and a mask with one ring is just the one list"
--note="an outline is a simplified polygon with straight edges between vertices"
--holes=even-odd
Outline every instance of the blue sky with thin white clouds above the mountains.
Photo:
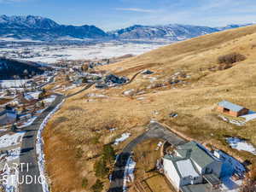
[[0,0],[0,15],[39,15],[108,31],[134,24],[224,26],[256,20],[255,0]]

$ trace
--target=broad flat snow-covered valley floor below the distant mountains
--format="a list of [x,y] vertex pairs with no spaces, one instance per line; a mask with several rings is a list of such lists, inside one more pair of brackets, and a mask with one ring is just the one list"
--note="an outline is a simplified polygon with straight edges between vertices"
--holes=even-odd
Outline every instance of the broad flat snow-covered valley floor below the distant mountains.
[[[87,60],[87,59],[105,59],[111,57],[118,57],[122,55],[132,54],[141,55],[152,49],[157,49],[163,44],[122,44],[122,43],[101,43],[94,45],[84,45],[84,46],[29,46],[31,52],[30,55],[26,55],[31,58],[22,58],[22,56],[17,56],[16,53],[22,55],[24,48],[4,48],[0,49],[1,52],[9,52],[9,57],[14,59],[22,59],[26,61],[40,61],[45,63],[54,63],[55,61],[65,59],[65,60]],[[1,54],[0,54],[1,55]],[[32,55],[32,56],[31,56]]]

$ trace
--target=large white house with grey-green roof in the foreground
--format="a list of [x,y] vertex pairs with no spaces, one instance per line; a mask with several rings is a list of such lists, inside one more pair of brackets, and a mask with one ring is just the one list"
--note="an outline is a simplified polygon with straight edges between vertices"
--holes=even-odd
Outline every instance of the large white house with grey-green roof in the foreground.
[[163,157],[164,173],[177,191],[210,192],[218,189],[222,162],[199,143],[178,145]]

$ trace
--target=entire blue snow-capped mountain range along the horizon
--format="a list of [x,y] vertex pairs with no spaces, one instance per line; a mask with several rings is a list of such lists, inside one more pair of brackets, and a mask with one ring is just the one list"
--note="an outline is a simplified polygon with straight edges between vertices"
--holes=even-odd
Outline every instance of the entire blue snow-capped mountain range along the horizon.
[[130,26],[113,32],[104,32],[96,26],[66,26],[40,16],[0,16],[0,38],[52,41],[56,39],[145,39],[164,38],[172,41],[195,38],[212,32],[245,25],[224,27],[190,26],[171,24],[166,26]]

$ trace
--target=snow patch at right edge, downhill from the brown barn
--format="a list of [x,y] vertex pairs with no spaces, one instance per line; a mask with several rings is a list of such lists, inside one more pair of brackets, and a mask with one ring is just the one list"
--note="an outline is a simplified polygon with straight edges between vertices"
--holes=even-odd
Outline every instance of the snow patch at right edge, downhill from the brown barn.
[[228,137],[226,138],[227,143],[230,144],[231,148],[236,148],[237,150],[247,151],[251,154],[256,155],[256,148],[252,144],[247,143],[246,141],[237,138],[237,137]]

